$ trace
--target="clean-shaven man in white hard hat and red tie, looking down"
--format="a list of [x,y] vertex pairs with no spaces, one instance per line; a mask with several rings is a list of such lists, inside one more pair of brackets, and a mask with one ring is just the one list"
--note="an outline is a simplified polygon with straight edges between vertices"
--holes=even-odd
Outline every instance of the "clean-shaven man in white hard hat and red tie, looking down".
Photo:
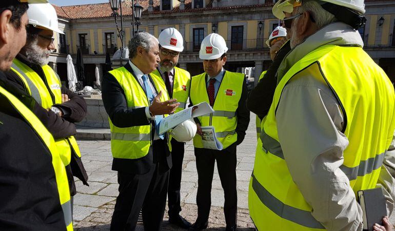
[[[190,230],[202,230],[208,226],[215,161],[225,194],[226,230],[236,230],[236,146],[244,140],[250,114],[245,104],[245,75],[223,68],[227,50],[221,35],[207,35],[202,41],[199,53],[205,73],[193,76],[191,80],[191,105],[208,102],[215,111],[195,120],[198,126],[198,134],[193,139],[198,169],[198,218]],[[222,143],[223,150],[203,148],[201,126],[215,128],[216,137]]]

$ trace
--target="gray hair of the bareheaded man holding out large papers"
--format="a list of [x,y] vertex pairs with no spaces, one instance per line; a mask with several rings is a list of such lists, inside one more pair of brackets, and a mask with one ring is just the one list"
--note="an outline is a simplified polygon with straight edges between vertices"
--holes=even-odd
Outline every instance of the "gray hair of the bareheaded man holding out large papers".
[[152,34],[147,32],[137,33],[129,42],[129,59],[137,55],[137,47],[141,46],[148,52],[152,47],[157,46],[157,44],[159,44],[159,41]]

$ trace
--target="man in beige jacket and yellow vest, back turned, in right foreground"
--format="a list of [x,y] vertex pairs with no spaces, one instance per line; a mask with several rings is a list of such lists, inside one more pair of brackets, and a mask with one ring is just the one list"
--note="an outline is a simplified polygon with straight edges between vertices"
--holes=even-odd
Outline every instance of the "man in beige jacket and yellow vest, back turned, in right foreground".
[[[259,230],[362,230],[358,190],[393,209],[395,94],[363,51],[363,0],[282,0],[292,50],[262,121],[249,188]],[[384,219],[388,225],[388,220]]]

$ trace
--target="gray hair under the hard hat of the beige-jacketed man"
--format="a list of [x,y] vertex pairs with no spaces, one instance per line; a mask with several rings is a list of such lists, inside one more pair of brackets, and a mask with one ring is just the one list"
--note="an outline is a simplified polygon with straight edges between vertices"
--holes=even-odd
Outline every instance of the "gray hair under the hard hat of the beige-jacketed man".
[[314,18],[315,24],[317,24],[317,27],[319,29],[323,28],[328,24],[338,21],[333,14],[324,10],[324,8],[321,7],[320,3],[314,0],[304,0],[302,6],[297,8],[296,13],[300,14],[305,11],[310,12],[311,16]]

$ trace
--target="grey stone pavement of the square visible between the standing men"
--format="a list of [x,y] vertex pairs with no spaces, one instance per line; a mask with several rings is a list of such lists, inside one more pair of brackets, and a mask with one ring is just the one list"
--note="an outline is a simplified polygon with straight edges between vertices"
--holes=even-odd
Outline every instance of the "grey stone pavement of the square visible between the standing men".
[[[76,230],[109,230],[115,199],[118,195],[116,172],[111,170],[110,141],[79,140],[84,166],[89,176],[89,187],[76,181],[77,195],[74,197],[74,227]],[[238,230],[254,230],[248,213],[248,184],[253,168],[256,147],[255,115],[251,113],[245,140],[238,146],[236,168],[238,187]],[[193,154],[193,144],[185,147],[183,175],[181,182],[181,215],[194,222],[198,211],[196,192],[198,190],[198,172]],[[224,191],[218,170],[215,167],[211,191],[211,212],[207,230],[224,230],[223,213]],[[167,222],[167,213],[163,230],[179,230]],[[139,224],[137,230],[144,230]],[[182,230],[182,229],[180,229]]]

